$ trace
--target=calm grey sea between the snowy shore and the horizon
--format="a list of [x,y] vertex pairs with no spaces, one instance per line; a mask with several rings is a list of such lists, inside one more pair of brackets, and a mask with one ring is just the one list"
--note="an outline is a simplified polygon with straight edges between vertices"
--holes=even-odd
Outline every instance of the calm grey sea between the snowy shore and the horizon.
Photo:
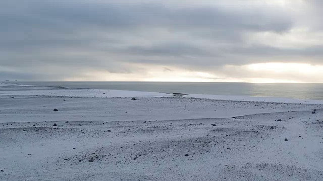
[[322,83],[15,81],[35,86],[323,100]]

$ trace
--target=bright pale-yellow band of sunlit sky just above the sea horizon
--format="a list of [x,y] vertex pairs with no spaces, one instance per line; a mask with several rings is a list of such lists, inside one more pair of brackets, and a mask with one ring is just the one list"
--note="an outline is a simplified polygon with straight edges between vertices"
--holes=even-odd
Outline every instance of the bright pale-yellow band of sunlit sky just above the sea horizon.
[[[93,70],[85,73],[83,77],[65,80],[301,83],[319,82],[319,77],[321,77],[323,72],[322,65],[281,62],[228,65],[223,69],[215,69],[211,72],[193,71],[170,66],[149,66],[143,64],[134,66],[139,66],[141,71],[111,73]],[[317,79],[312,77],[317,77]]]

